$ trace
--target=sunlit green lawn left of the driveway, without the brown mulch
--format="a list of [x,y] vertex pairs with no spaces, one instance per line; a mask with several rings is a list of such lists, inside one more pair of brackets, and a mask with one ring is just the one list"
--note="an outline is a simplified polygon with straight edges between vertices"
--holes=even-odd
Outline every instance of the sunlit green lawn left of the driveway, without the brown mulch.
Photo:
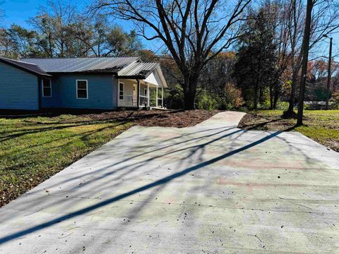
[[131,121],[60,115],[1,119],[0,206],[107,143]]

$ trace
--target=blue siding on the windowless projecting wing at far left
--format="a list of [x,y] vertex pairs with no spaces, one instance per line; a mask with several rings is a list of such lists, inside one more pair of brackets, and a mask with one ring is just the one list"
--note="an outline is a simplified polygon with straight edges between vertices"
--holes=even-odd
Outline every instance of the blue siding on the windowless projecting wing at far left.
[[0,109],[39,109],[37,76],[0,63]]

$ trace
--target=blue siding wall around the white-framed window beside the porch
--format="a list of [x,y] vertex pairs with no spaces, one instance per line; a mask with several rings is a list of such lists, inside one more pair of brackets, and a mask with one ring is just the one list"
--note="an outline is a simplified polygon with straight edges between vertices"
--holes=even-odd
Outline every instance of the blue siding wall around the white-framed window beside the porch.
[[[88,80],[88,99],[76,98],[76,80]],[[52,79],[52,97],[42,97],[44,108],[115,109],[117,80],[112,75],[63,74]]]

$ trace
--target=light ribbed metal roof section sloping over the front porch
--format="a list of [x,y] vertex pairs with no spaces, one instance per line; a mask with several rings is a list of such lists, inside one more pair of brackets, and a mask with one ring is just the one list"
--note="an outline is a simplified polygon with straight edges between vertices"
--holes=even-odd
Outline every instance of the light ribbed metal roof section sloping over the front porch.
[[150,73],[152,73],[158,66],[159,63],[135,62],[118,71],[117,76],[118,78],[138,76],[141,78],[147,78],[148,75],[150,75]]

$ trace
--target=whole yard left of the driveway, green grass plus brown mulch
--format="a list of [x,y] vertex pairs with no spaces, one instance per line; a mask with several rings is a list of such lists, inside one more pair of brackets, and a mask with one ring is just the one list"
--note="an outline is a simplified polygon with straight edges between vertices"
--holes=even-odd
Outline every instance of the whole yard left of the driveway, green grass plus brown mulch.
[[151,110],[83,111],[79,115],[78,111],[70,112],[16,119],[0,115],[0,207],[134,124],[180,128],[194,126],[218,113]]

